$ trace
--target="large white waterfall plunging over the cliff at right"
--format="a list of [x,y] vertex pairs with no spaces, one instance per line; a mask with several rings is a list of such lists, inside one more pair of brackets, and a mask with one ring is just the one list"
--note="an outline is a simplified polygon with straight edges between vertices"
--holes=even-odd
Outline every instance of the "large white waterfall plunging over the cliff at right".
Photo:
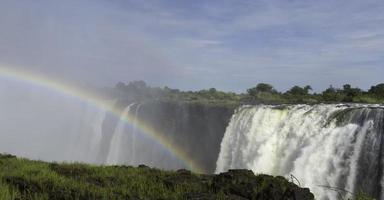
[[379,105],[243,106],[227,127],[216,173],[247,168],[293,175],[317,199],[351,197],[329,187],[380,198],[383,134]]

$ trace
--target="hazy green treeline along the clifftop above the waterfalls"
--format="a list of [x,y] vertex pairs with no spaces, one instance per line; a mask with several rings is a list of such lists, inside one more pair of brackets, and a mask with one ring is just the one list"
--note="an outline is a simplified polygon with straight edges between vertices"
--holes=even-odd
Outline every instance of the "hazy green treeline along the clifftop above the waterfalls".
[[286,92],[277,91],[272,85],[259,83],[246,93],[223,92],[215,88],[200,91],[180,91],[169,87],[150,87],[144,81],[128,84],[119,82],[114,95],[130,101],[168,100],[202,104],[293,104],[293,103],[384,103],[384,83],[372,86],[368,91],[350,84],[342,88],[330,86],[321,93],[312,93],[312,87],[293,86]]

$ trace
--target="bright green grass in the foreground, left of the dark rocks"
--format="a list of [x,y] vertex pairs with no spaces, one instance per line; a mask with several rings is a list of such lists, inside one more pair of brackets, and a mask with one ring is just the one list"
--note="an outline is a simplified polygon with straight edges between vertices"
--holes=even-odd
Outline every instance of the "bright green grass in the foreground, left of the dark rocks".
[[25,159],[3,159],[1,199],[180,199],[195,189],[158,182],[171,172],[84,164],[48,164]]

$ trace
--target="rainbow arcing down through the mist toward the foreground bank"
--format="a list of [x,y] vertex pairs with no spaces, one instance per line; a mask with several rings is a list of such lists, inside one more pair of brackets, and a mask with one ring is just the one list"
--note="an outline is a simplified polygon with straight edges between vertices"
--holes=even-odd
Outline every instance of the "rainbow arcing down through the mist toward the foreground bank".
[[[54,80],[43,76],[36,72],[30,70],[20,70],[15,67],[0,65],[0,77],[8,78],[11,80],[17,80],[24,82],[26,84],[32,84],[34,86],[39,86],[46,88],[48,90],[60,93],[61,95],[73,97],[79,99],[80,101],[86,102],[87,104],[101,109],[103,111],[110,112],[120,118],[121,121],[136,126],[141,134],[148,136],[153,139],[156,143],[160,144],[165,150],[170,154],[175,156],[177,159],[182,161],[189,170],[195,173],[206,173],[207,171],[201,167],[196,161],[190,158],[190,156],[177,144],[172,143],[167,139],[166,134],[161,133],[143,120],[135,118],[132,114],[121,115],[121,111],[115,108],[115,106],[108,103],[106,100],[103,100],[96,95],[80,89],[75,85],[71,85],[64,81]],[[135,123],[132,123],[135,122]]]

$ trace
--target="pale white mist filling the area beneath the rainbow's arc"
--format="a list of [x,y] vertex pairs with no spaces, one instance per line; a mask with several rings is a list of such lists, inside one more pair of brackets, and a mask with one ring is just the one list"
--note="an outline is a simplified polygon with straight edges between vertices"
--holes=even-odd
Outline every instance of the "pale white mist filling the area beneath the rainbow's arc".
[[[44,161],[187,167],[135,120],[127,123],[89,99],[16,80],[0,83],[0,152]],[[121,115],[137,115],[140,104],[129,106]]]

